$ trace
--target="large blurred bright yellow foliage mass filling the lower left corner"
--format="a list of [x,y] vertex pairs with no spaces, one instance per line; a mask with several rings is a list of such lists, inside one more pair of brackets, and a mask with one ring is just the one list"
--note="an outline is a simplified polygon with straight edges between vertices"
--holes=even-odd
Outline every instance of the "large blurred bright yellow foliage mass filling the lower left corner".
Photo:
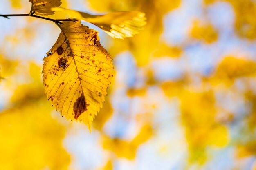
[[27,97],[40,91],[43,87],[34,83],[18,86],[13,106],[0,113],[1,169],[67,170],[70,156],[62,147],[65,127],[52,118],[52,106],[43,93]]

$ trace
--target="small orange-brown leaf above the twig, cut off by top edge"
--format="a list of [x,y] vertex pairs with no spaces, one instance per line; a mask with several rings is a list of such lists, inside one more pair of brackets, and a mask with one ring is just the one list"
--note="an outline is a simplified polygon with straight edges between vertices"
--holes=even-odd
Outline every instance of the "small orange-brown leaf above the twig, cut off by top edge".
[[51,8],[59,7],[61,0],[29,0],[32,3],[31,11],[35,12],[36,15],[47,16],[53,15],[54,11]]

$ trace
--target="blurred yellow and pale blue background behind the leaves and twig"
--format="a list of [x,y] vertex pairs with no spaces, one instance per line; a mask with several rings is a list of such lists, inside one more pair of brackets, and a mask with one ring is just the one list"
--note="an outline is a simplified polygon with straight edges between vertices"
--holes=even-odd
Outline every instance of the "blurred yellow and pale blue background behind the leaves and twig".
[[[256,170],[255,0],[62,2],[90,13],[143,11],[148,24],[114,40],[83,22],[115,65],[90,134],[44,94],[42,60],[58,26],[0,18],[0,169]],[[1,0],[0,13],[30,6]]]

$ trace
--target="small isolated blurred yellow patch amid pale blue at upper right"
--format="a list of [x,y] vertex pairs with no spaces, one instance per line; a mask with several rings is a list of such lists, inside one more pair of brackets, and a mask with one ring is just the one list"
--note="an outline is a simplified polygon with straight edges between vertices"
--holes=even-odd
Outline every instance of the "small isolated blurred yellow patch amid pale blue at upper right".
[[191,36],[198,40],[211,44],[218,40],[218,32],[211,24],[200,24],[199,20],[193,22]]

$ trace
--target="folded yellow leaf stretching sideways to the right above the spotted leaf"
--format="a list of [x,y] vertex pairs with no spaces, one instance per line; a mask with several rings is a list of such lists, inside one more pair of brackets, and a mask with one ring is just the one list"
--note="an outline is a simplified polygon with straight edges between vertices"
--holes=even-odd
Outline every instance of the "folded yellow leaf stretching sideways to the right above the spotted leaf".
[[117,11],[105,15],[91,15],[89,13],[65,8],[52,8],[53,11],[67,12],[71,18],[90,22],[112,38],[124,39],[133,37],[146,25],[145,13],[138,11]]

